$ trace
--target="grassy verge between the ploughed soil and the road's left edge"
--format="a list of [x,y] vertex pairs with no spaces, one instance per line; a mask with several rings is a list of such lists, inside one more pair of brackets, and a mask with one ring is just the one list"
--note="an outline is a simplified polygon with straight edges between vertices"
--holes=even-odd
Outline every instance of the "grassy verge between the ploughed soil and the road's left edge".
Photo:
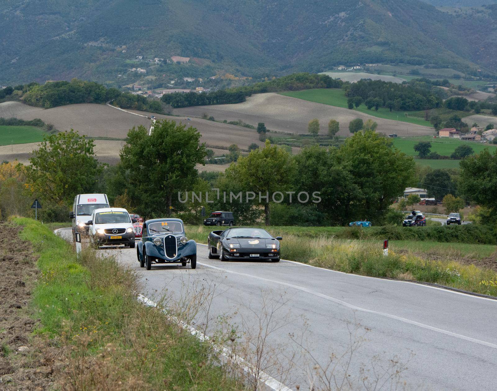
[[140,287],[131,271],[91,250],[77,258],[47,225],[14,222],[40,256],[32,305],[43,327],[36,333],[72,350],[63,389],[241,388],[213,362],[208,345],[137,301]]

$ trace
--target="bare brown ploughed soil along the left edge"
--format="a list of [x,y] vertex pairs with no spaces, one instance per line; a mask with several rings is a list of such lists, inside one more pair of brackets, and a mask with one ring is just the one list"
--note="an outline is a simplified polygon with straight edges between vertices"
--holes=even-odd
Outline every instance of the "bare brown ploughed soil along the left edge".
[[0,390],[47,390],[63,355],[54,340],[32,337],[39,319],[29,303],[39,270],[31,244],[18,238],[19,231],[0,224]]

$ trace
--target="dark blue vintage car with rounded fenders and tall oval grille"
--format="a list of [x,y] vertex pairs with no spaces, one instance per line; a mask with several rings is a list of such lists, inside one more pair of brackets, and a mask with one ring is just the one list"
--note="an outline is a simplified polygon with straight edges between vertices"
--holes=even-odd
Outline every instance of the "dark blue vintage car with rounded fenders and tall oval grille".
[[178,218],[156,218],[143,223],[142,240],[138,242],[140,267],[152,264],[177,264],[197,267],[197,244],[185,236],[183,221]]

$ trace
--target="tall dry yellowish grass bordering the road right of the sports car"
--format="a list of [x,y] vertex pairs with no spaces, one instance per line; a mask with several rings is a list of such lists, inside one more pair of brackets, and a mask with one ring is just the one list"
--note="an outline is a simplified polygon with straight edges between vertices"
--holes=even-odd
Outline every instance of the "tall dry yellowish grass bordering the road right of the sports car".
[[282,249],[285,259],[309,265],[370,277],[386,277],[440,284],[465,291],[497,295],[497,273],[454,261],[434,261],[411,253],[400,254],[363,240],[335,239],[325,236],[311,240],[288,235]]

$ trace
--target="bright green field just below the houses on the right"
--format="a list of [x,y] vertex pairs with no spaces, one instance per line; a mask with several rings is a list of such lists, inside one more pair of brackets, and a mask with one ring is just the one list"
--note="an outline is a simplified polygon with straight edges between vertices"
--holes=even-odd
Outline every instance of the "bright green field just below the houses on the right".
[[[438,152],[440,155],[449,156],[459,145],[469,145],[475,153],[482,152],[485,148],[493,153],[497,145],[494,144],[480,144],[472,141],[462,141],[455,138],[443,137],[434,139],[431,136],[423,137],[397,137],[393,139],[394,145],[399,148],[402,152],[416,156],[417,152],[414,151],[414,145],[420,141],[429,141],[431,143],[431,152]],[[421,160],[421,159],[420,159]],[[423,159],[424,160],[424,159]],[[440,161],[440,160],[437,160]],[[444,162],[442,160],[442,162]],[[446,161],[445,161],[446,162]],[[456,161],[456,166],[459,166],[459,162]]]

